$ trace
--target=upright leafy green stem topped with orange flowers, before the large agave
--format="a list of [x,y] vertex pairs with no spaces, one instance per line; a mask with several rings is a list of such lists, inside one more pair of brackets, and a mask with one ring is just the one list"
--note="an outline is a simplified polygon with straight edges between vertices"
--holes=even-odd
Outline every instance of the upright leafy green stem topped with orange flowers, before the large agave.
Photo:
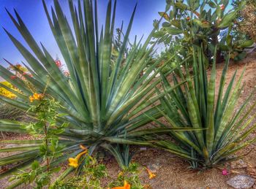
[[[15,177],[11,177],[10,181],[18,180],[18,183],[23,182],[25,184],[30,184],[31,182],[36,182],[37,188],[43,188],[45,185],[50,186],[51,175],[60,171],[61,167],[50,166],[56,158],[59,158],[64,150],[64,144],[59,144],[59,134],[64,132],[65,128],[68,126],[67,123],[62,123],[61,125],[56,124],[56,120],[61,118],[57,110],[61,107],[58,101],[48,96],[45,93],[34,93],[30,96],[31,107],[28,110],[35,114],[37,121],[21,126],[27,133],[39,137],[42,144],[34,145],[31,147],[23,147],[23,150],[39,150],[38,158],[39,161],[34,161],[31,164],[30,171],[23,171],[15,173]],[[18,147],[18,150],[22,147]],[[8,149],[5,149],[8,151]],[[13,149],[9,149],[13,150]],[[3,161],[11,161],[10,158],[4,158]],[[44,167],[46,164],[46,168]],[[15,187],[16,185],[12,185]]]

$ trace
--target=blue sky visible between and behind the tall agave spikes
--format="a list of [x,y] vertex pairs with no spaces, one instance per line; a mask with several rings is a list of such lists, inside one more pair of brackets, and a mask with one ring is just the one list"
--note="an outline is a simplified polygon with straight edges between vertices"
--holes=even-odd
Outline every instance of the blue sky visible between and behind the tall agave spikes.
[[[60,2],[64,10],[68,10],[68,1],[61,0]],[[165,10],[165,0],[118,0],[116,9],[116,28],[121,26],[122,20],[124,20],[124,25],[127,26],[136,2],[138,2],[138,8],[135,14],[131,36],[135,36],[135,34],[138,36],[145,34],[147,36],[153,28],[153,20],[159,18],[158,12]],[[53,0],[46,0],[46,3],[48,9],[50,9],[50,6],[53,5]],[[105,20],[105,9],[108,1],[98,0],[98,4],[99,24],[102,24]],[[14,14],[13,8],[15,8],[24,23],[26,23],[31,34],[34,36],[34,39],[36,39],[37,42],[42,42],[54,58],[56,57],[56,54],[61,58],[59,47],[56,45],[56,42],[53,39],[53,34],[48,26],[48,20],[42,7],[42,1],[0,0],[0,26],[6,28],[7,31],[10,31],[10,33],[17,37],[24,45],[24,40],[4,8],[7,8],[12,15]],[[70,15],[68,11],[66,15],[69,19]],[[12,63],[25,61],[16,47],[12,45],[9,37],[4,32],[4,29],[0,28],[0,63],[1,65],[7,66],[7,63],[5,63],[2,58],[6,58]]]

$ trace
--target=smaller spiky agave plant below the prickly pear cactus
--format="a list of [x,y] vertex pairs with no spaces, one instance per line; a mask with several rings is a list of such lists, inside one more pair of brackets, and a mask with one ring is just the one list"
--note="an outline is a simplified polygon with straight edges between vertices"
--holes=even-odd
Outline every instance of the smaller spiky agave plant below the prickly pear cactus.
[[[255,131],[256,125],[251,126],[255,114],[251,115],[255,104],[246,109],[252,99],[251,93],[241,107],[238,107],[238,98],[241,96],[244,84],[242,77],[237,82],[235,72],[225,88],[226,74],[229,61],[227,60],[222,71],[219,89],[216,87],[216,61],[211,68],[211,77],[207,78],[202,50],[198,55],[194,53],[192,69],[186,66],[179,69],[179,76],[173,74],[173,84],[162,77],[165,86],[165,97],[161,99],[162,113],[173,127],[205,128],[201,131],[171,132],[173,140],[156,142],[157,146],[187,159],[193,167],[211,168],[225,161],[239,158],[235,155],[238,150],[255,142],[256,139],[246,137]],[[185,72],[185,73],[184,73]],[[176,85],[177,80],[187,80],[182,87],[167,91]],[[217,95],[215,95],[217,93]],[[155,120],[157,121],[157,120]],[[163,123],[157,121],[159,125]]]

